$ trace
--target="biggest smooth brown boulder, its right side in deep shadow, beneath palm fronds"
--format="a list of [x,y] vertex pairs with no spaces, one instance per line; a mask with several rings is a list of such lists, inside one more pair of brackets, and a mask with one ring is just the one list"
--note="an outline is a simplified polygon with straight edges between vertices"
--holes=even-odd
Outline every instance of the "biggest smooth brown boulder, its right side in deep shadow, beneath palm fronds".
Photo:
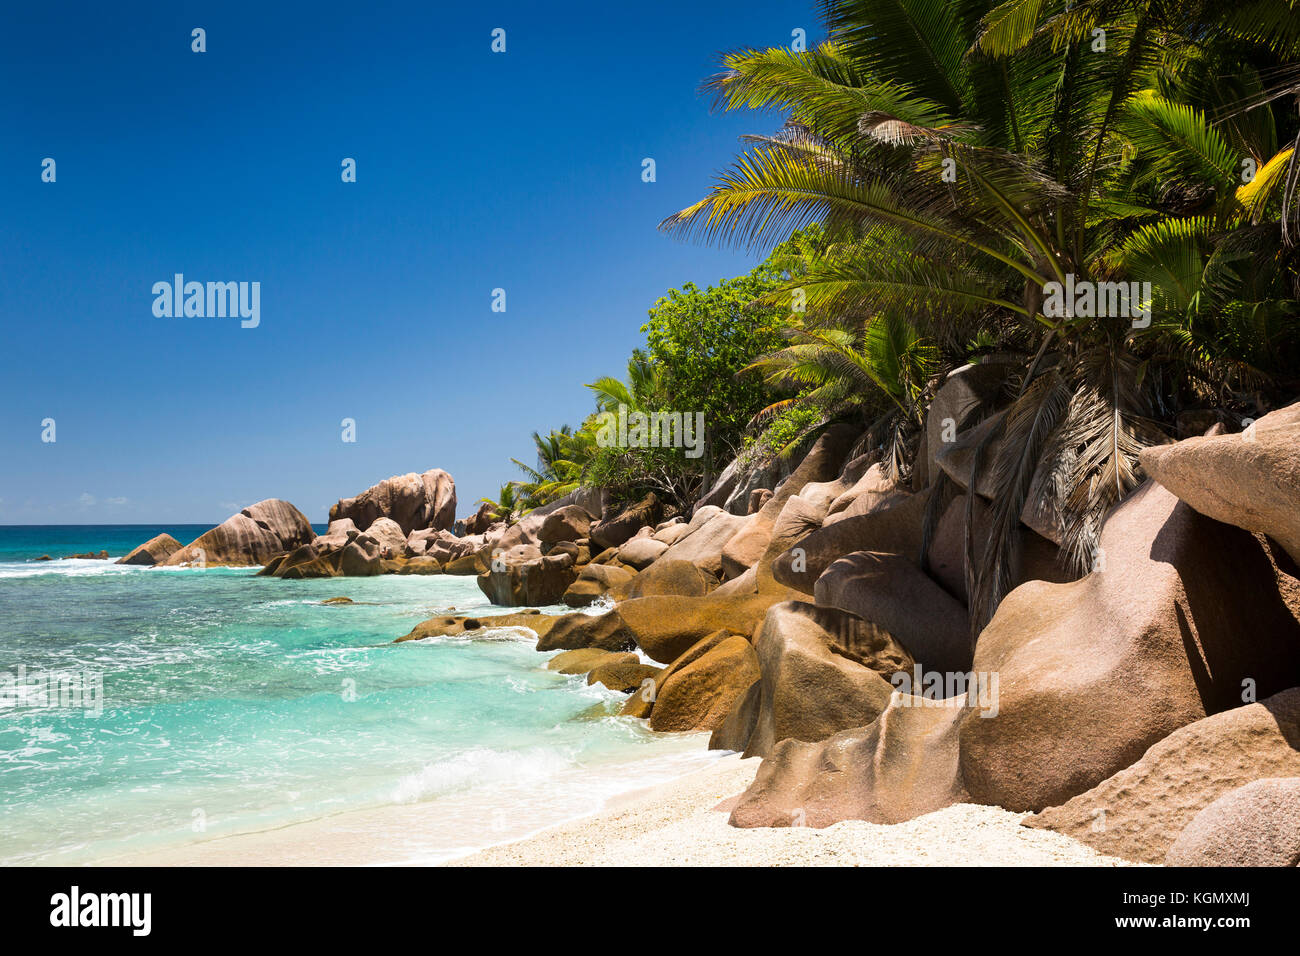
[[1147,483],[1112,511],[1098,570],[1030,581],[980,635],[996,718],[962,724],[971,796],[1037,810],[1083,793],[1193,721],[1300,683],[1296,583],[1248,532]]

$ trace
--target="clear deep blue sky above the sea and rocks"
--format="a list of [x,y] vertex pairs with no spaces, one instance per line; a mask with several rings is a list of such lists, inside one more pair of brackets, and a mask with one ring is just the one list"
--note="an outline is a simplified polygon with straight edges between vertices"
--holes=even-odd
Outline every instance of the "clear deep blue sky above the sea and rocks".
[[[716,53],[796,27],[807,0],[8,4],[0,524],[324,520],[432,467],[469,512],[659,295],[753,265],[655,226],[779,124],[710,114]],[[177,272],[259,281],[260,325],[155,317]]]

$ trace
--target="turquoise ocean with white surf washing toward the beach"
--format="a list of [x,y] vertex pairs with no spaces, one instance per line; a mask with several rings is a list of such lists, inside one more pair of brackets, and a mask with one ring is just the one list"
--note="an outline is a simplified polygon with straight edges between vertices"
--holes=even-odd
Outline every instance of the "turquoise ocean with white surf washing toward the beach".
[[[0,527],[0,864],[139,858],[395,805],[428,813],[369,861],[432,862],[707,760],[698,735],[650,734],[616,715],[623,695],[547,671],[529,631],[393,644],[450,609],[514,610],[473,578],[60,559],[205,529]],[[338,596],[356,604],[321,604]]]

